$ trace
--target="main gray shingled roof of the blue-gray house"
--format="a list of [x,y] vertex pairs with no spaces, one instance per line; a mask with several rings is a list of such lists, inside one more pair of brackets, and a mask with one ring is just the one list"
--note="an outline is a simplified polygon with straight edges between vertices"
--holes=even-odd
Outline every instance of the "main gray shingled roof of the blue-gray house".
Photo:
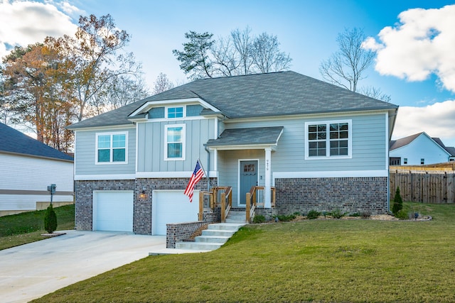
[[126,116],[147,101],[188,98],[203,99],[231,119],[398,108],[296,72],[272,72],[198,79],[69,128],[130,124]]

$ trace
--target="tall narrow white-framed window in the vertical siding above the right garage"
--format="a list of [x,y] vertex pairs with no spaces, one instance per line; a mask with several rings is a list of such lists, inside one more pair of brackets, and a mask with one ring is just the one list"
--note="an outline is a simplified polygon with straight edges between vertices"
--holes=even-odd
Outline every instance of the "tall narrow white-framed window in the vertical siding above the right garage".
[[185,160],[185,124],[166,125],[165,160]]

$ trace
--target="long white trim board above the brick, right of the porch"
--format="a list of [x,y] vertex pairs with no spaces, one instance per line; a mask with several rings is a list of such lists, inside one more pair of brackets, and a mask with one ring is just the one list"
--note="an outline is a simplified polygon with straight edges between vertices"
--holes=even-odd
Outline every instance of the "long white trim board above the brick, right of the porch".
[[331,177],[387,177],[387,170],[341,170],[327,172],[274,172],[273,179],[280,178],[331,178]]

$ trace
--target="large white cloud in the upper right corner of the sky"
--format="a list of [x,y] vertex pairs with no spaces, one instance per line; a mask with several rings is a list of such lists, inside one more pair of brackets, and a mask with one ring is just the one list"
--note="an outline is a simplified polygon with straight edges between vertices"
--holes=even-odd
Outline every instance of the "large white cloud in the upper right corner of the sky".
[[434,73],[455,92],[455,5],[409,9],[398,18],[396,26],[380,31],[380,42],[370,37],[363,43],[377,52],[375,70],[408,81],[423,81]]

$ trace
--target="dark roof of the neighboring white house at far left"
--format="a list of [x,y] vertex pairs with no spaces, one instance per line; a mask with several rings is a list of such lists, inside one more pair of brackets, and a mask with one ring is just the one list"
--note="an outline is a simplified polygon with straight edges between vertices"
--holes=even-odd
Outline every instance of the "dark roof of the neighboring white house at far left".
[[4,123],[0,123],[0,152],[73,161],[70,155],[51,148]]

